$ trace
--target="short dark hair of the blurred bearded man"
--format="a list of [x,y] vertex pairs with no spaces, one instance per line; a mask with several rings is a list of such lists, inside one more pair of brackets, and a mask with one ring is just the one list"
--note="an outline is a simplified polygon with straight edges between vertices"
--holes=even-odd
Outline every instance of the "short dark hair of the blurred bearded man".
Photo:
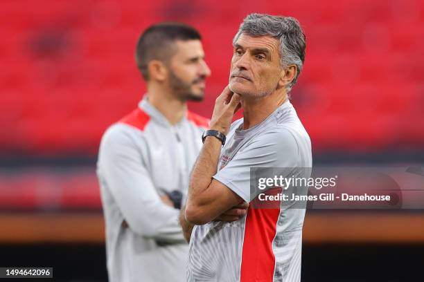
[[195,39],[202,39],[200,33],[184,23],[168,22],[150,26],[143,32],[136,46],[136,63],[143,78],[146,81],[149,79],[148,63],[152,59],[168,63],[175,52],[175,41]]

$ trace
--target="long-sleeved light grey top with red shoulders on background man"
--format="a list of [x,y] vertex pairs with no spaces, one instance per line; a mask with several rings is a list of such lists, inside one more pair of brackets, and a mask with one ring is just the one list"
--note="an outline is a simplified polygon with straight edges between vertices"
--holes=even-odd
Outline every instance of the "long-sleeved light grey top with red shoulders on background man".
[[103,135],[97,174],[110,282],[186,281],[188,245],[179,210],[159,197],[179,190],[186,198],[208,126],[209,120],[189,111],[171,126],[144,98]]

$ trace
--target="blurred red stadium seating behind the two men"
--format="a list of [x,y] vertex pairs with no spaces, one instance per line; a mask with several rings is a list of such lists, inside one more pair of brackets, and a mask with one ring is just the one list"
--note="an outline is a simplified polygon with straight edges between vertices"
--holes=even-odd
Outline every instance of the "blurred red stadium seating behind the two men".
[[[0,151],[53,155],[96,153],[107,126],[136,106],[145,86],[134,46],[143,28],[161,20],[202,32],[212,76],[205,102],[190,106],[209,117],[228,82],[233,35],[255,10],[210,0],[193,3],[193,15],[167,1],[44,0],[37,9],[3,2]],[[423,91],[414,90],[424,73],[421,1],[267,1],[258,12],[267,8],[294,15],[306,30],[293,102],[318,152],[423,147],[423,131],[405,125],[422,120]]]

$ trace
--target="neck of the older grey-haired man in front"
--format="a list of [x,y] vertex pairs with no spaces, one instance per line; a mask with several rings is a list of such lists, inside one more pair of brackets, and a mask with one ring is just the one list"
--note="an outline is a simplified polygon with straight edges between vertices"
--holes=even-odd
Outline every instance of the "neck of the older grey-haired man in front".
[[260,99],[242,100],[243,130],[263,122],[287,100],[287,93],[281,91],[275,91]]

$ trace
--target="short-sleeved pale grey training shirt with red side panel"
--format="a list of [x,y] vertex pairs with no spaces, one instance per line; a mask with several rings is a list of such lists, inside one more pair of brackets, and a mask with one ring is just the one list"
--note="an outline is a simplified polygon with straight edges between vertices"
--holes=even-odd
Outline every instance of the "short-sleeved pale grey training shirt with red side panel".
[[[242,130],[242,124],[242,119],[231,124],[213,178],[250,203],[258,198],[251,190],[251,167],[287,168],[284,177],[310,177],[310,169],[304,169],[312,167],[310,138],[289,101],[251,129]],[[283,201],[276,207],[250,205],[247,215],[233,223],[196,225],[188,281],[300,281],[305,209]]]

